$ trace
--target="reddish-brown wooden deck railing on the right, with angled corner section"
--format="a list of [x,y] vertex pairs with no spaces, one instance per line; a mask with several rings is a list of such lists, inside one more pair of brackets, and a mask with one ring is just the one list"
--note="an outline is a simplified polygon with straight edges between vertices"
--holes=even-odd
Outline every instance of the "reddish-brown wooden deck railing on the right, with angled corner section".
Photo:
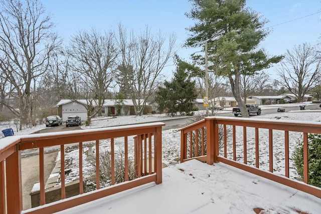
[[[309,133],[321,134],[321,124],[277,119],[206,117],[181,129],[181,162],[195,158],[208,164],[223,162],[321,197],[321,188],[308,184]],[[273,138],[276,134],[277,140]],[[280,140],[281,151],[276,151],[274,143]],[[294,149],[298,140],[303,142],[303,182],[290,176],[293,164],[290,163],[290,150]],[[262,153],[263,147],[267,147],[267,153]],[[263,161],[264,157],[268,157],[267,161]],[[284,172],[279,170],[283,164]]]

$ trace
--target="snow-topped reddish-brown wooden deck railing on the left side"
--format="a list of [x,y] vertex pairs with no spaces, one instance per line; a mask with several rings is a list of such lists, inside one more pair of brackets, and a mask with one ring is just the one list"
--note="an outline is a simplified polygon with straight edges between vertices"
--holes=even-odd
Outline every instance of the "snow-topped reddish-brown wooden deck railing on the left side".
[[[53,213],[107,195],[111,195],[149,182],[162,183],[162,126],[164,123],[118,126],[111,128],[88,129],[79,131],[55,132],[10,136],[0,140],[0,214],[4,213]],[[128,136],[136,136],[128,138]],[[101,140],[110,142],[111,186],[100,188],[99,144]],[[115,184],[115,148],[114,140],[123,142],[125,181]],[[96,153],[96,190],[84,193],[83,189],[83,144],[95,141]],[[76,144],[79,149],[79,192],[80,195],[66,198],[65,191],[65,146]],[[128,145],[134,146],[137,178],[128,179]],[[61,199],[47,203],[45,199],[44,151],[46,147],[60,146],[61,151]],[[21,151],[39,149],[40,206],[23,210]],[[149,162],[149,169],[141,163]],[[153,163],[151,162],[153,160]],[[137,165],[139,163],[139,165]],[[151,168],[153,165],[153,170]]]

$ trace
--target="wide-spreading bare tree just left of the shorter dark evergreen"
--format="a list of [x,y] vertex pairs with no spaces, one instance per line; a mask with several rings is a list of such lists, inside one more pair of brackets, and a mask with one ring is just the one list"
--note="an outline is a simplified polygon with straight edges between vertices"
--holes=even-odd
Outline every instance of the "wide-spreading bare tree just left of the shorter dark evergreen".
[[129,81],[131,99],[136,115],[141,115],[146,106],[147,99],[157,89],[157,80],[162,70],[174,56],[176,37],[170,35],[166,41],[165,36],[159,32],[151,35],[146,27],[144,32],[135,36],[133,31],[127,34],[122,25],[118,25],[118,45],[121,52],[119,75],[123,80]]

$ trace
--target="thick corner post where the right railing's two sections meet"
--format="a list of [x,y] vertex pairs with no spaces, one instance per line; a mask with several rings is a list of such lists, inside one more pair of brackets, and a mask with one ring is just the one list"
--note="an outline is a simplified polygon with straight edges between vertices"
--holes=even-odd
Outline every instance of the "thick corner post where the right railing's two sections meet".
[[[214,120],[206,120],[206,163],[214,163],[215,143],[214,143]],[[216,157],[215,157],[216,158]]]

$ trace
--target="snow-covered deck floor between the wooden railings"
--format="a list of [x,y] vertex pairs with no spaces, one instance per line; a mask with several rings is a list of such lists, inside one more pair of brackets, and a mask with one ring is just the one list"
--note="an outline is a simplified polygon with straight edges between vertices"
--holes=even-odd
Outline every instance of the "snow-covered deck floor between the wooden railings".
[[197,160],[163,169],[145,184],[58,213],[321,213],[321,198],[224,163]]

